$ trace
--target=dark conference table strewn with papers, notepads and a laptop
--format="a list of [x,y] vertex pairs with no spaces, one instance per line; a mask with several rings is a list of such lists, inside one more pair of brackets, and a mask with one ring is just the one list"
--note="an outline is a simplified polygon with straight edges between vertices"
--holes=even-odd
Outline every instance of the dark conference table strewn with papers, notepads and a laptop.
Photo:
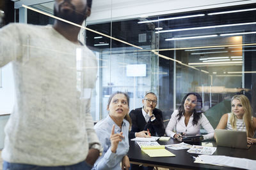
[[[171,145],[180,143],[176,139],[170,139],[169,141],[159,141],[157,142],[160,145]],[[216,146],[215,141],[203,141],[203,142],[211,142],[212,146]],[[128,157],[130,159],[131,164],[140,164],[143,166],[154,166],[154,167],[165,167],[170,169],[238,169],[234,167],[224,167],[224,166],[214,166],[210,164],[198,164],[194,163],[194,157],[197,157],[198,154],[188,153],[187,150],[172,150],[170,148],[166,148],[173,154],[175,157],[149,157],[146,153],[141,151],[140,146],[136,143],[136,141],[129,141],[130,148],[128,152]],[[191,145],[202,145],[201,142],[189,143]],[[248,149],[238,149],[238,148],[229,148],[229,147],[221,147],[218,146],[216,152],[213,155],[225,155],[229,157],[239,157],[256,160],[256,145],[252,145]],[[255,167],[256,169],[256,167]]]

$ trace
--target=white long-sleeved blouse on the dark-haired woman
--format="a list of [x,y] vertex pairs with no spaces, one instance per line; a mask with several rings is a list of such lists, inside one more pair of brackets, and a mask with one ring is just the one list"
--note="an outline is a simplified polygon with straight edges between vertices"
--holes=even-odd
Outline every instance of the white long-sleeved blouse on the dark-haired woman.
[[[202,113],[202,117],[198,120],[197,125],[192,124],[193,115],[191,115],[187,126],[185,125],[184,115],[182,115],[180,120],[178,120],[178,118],[179,118],[179,117],[177,117],[178,114],[179,114],[178,110],[173,111],[172,118],[170,119],[170,121],[166,127],[166,130],[165,130],[165,133],[167,136],[171,136],[173,138],[173,136],[176,133],[181,133],[181,132],[185,133],[188,136],[197,135],[197,134],[200,134],[200,126],[202,125],[202,127],[208,133],[208,134],[203,135],[204,140],[213,138],[214,129],[212,128],[212,125],[210,124],[210,122],[207,120],[207,118],[205,117],[205,115],[203,113]],[[176,132],[173,132],[174,127],[176,129]]]

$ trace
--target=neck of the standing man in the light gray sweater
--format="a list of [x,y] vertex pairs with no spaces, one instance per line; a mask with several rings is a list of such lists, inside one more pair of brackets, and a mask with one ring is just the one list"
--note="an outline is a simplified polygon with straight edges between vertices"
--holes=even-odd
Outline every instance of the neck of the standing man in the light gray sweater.
[[[81,25],[81,24],[79,24],[79,25]],[[80,43],[77,39],[77,36],[81,29],[80,27],[56,20],[54,22],[53,28],[56,31],[58,31],[61,35],[63,35],[65,38],[67,38],[69,41],[72,41],[72,43],[76,43],[76,44],[80,45]]]

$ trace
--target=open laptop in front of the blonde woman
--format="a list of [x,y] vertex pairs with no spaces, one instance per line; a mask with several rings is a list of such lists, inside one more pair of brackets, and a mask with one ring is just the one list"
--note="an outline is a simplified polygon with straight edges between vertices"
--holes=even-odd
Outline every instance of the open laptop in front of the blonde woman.
[[251,146],[247,144],[247,135],[245,131],[215,129],[215,139],[217,146],[241,149],[247,149]]

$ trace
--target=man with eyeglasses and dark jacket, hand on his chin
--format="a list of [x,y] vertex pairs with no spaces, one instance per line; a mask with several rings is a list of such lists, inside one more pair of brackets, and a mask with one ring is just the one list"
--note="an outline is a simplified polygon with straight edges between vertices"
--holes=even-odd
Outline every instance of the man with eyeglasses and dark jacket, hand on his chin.
[[132,119],[132,129],[129,138],[148,136],[163,136],[163,114],[156,108],[157,96],[148,92],[142,99],[143,107],[132,110],[129,116]]

